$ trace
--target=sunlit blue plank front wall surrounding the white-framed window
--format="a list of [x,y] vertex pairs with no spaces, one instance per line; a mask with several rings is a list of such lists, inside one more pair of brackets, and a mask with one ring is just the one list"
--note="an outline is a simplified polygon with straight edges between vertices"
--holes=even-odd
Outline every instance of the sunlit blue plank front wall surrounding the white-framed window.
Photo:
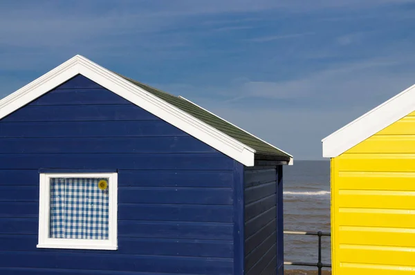
[[[233,274],[235,165],[75,77],[0,120],[0,274]],[[119,169],[117,251],[36,248],[41,168]]]

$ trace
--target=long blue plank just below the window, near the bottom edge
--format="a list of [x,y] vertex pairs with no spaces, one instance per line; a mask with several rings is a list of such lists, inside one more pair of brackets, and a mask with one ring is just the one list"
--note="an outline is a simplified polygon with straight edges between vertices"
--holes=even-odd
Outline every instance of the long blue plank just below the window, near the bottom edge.
[[[232,274],[232,260],[181,256],[138,256],[50,252],[0,252],[1,267],[121,270],[189,274]],[[21,260],[24,259],[24,260]]]

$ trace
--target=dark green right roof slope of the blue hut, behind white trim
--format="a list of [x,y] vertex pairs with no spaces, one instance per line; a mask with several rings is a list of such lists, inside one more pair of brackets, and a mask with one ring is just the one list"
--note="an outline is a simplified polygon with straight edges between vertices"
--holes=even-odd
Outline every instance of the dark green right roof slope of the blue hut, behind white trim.
[[215,129],[218,129],[226,135],[229,135],[230,137],[239,140],[239,142],[250,146],[252,149],[255,149],[255,151],[257,151],[257,153],[260,155],[275,156],[275,158],[280,158],[281,160],[288,161],[290,158],[293,158],[288,153],[276,148],[273,145],[270,145],[268,142],[255,137],[255,135],[240,129],[237,126],[234,126],[234,124],[231,124],[230,122],[223,120],[221,117],[210,113],[204,108],[201,108],[193,102],[190,102],[190,100],[187,100],[183,97],[176,97],[175,95],[160,91],[157,88],[148,86],[147,84],[142,84],[141,82],[138,82],[129,77],[125,77],[123,75],[120,76],[124,79],[127,79],[129,82],[139,86],[140,88],[143,88],[145,91],[156,95],[156,97],[160,97],[160,99],[163,99],[165,102],[180,108],[182,111],[185,111],[186,113],[196,117],[206,124],[209,124]]

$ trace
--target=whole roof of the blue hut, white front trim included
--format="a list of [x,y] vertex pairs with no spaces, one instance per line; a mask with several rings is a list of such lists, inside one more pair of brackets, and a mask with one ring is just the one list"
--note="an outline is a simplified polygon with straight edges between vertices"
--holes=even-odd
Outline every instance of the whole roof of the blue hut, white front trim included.
[[253,166],[255,160],[276,160],[286,162],[286,164],[293,162],[293,157],[288,153],[243,131],[189,100],[113,73],[80,55],[76,55],[15,93],[1,99],[0,120],[75,75],[84,75],[246,166]]

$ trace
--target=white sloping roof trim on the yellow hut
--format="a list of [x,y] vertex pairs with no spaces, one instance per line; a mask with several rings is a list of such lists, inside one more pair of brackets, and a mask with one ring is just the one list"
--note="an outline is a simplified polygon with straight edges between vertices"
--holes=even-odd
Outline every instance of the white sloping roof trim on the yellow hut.
[[415,111],[415,85],[322,140],[323,157],[335,158]]

